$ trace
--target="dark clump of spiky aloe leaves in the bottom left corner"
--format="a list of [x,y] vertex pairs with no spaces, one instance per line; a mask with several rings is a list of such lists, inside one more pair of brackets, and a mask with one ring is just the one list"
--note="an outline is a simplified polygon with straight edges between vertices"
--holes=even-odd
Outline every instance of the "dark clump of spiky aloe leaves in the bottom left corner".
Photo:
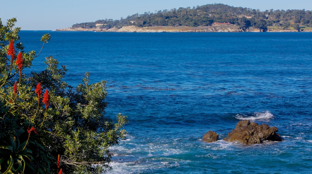
[[26,131],[31,124],[7,112],[0,118],[0,125],[0,172],[42,174],[51,172],[53,158],[41,141],[44,137]]

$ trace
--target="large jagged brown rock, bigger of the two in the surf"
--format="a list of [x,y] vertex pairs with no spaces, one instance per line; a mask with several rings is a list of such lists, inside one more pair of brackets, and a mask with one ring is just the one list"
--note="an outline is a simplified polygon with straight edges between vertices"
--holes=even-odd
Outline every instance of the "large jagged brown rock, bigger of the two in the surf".
[[262,143],[265,140],[282,141],[276,127],[269,127],[267,124],[258,125],[257,123],[243,120],[236,124],[236,128],[227,134],[224,141],[238,141],[245,144]]

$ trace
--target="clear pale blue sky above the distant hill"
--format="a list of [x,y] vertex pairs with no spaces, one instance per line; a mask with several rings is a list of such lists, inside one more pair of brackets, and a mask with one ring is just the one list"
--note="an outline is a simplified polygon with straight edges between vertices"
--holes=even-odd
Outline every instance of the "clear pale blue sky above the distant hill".
[[126,18],[135,13],[222,3],[251,9],[312,10],[311,0],[0,0],[2,23],[17,18],[22,30],[55,30],[99,19]]

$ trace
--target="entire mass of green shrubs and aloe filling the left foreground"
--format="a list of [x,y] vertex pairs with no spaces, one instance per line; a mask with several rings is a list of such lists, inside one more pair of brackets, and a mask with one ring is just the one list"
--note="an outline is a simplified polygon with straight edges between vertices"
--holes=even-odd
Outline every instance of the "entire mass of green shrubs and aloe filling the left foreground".
[[[0,173],[57,173],[60,168],[63,173],[110,170],[108,147],[125,139],[123,125],[128,121],[122,114],[117,114],[116,122],[104,116],[106,81],[89,84],[86,73],[82,84],[68,86],[62,80],[66,66],[59,68],[52,56],[46,57],[46,70],[32,72],[29,77],[20,74],[16,60],[11,66],[11,56],[7,56],[11,39],[15,51],[22,52],[22,69],[31,67],[38,55],[23,51],[22,43],[17,42],[20,28],[13,28],[15,22],[13,18],[2,25],[0,20]],[[41,41],[44,44],[50,38],[46,34]],[[38,83],[42,94],[48,90],[48,105],[35,90]]]

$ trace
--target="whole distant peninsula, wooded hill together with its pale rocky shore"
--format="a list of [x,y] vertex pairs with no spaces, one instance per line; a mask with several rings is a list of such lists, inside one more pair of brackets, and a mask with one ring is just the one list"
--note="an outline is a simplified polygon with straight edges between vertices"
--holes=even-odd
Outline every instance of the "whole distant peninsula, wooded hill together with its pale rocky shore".
[[311,32],[312,11],[266,10],[207,4],[97,20],[56,31],[97,32]]

